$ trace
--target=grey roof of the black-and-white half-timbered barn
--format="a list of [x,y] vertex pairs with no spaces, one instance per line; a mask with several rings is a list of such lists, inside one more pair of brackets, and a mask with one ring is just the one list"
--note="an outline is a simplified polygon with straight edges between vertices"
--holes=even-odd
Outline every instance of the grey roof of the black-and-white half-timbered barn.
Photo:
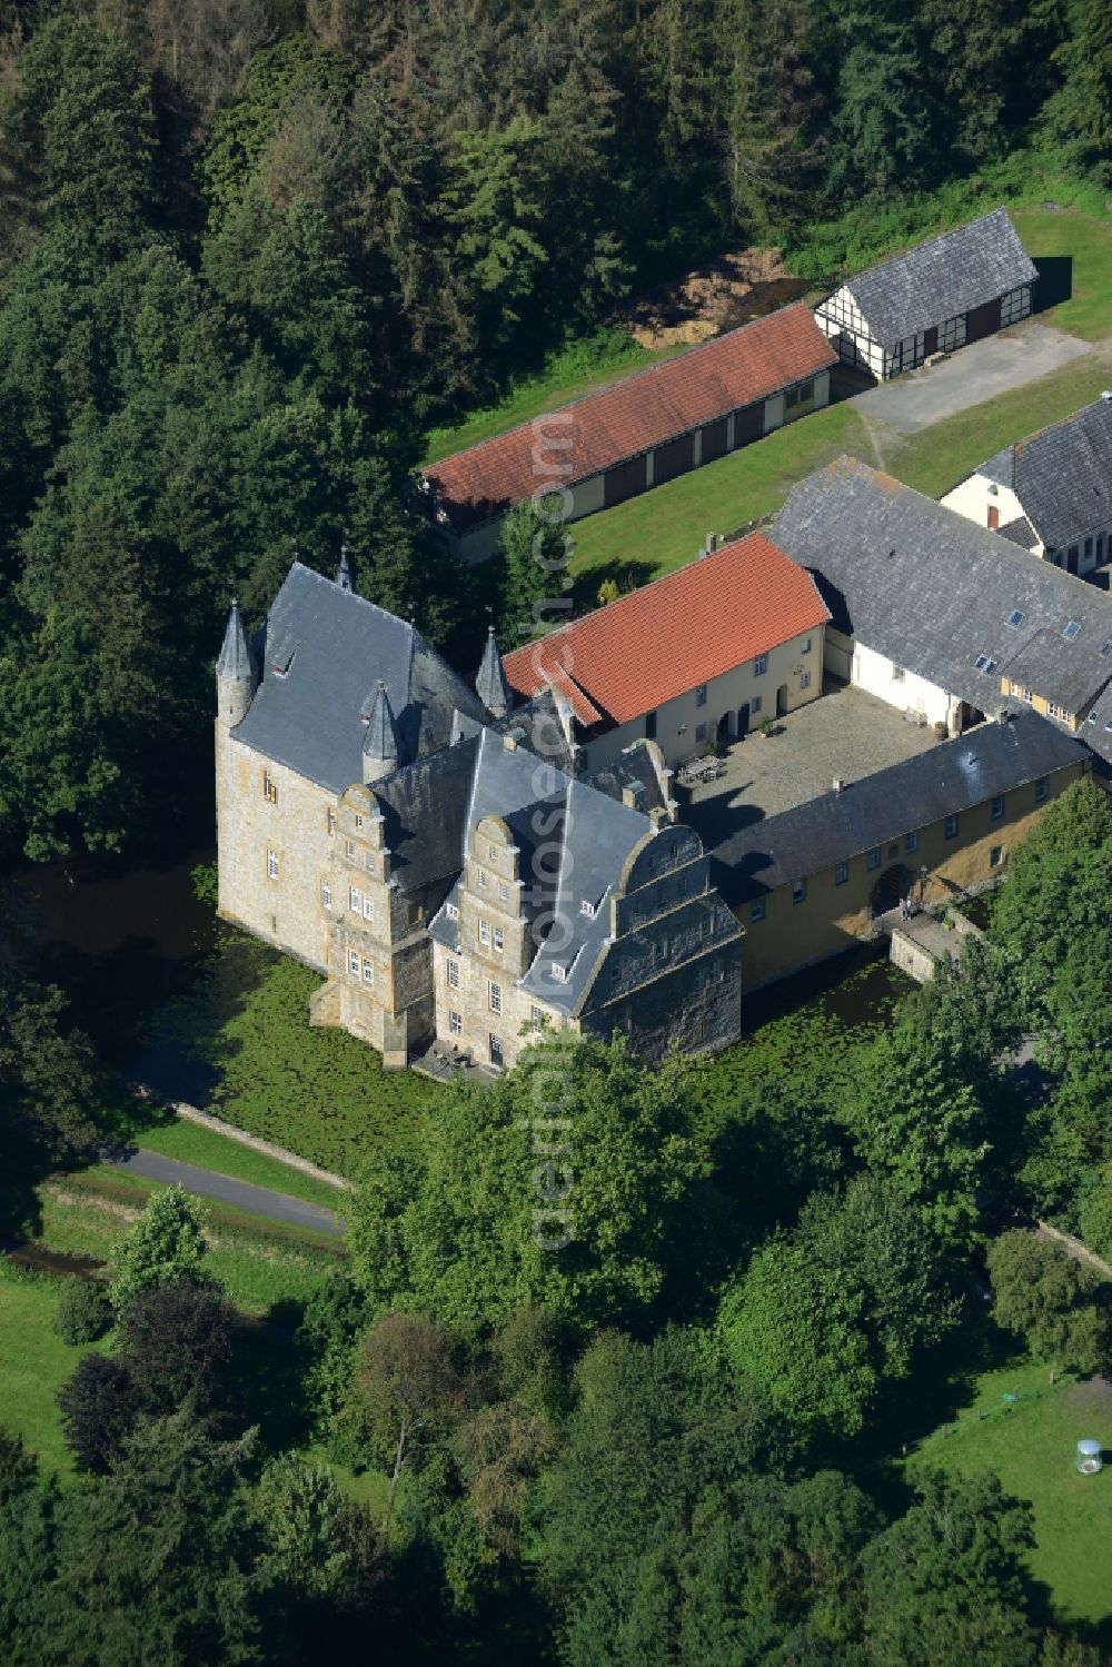
[[1039,277],[1007,208],[944,232],[849,278],[874,342],[897,342],[995,300]]

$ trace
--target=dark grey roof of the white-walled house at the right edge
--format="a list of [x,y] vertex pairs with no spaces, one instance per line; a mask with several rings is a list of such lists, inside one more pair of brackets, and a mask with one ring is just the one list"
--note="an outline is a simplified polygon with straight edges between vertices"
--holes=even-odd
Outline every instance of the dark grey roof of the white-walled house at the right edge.
[[1005,447],[974,473],[1012,488],[1049,550],[1112,528],[1112,400]]

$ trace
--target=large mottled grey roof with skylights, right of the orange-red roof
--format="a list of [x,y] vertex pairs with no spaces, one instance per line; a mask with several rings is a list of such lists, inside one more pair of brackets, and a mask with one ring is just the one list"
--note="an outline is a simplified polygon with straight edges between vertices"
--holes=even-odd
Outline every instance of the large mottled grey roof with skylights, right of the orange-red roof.
[[857,458],[800,482],[772,537],[815,570],[835,630],[982,712],[1005,677],[1075,713],[1112,677],[1104,592]]

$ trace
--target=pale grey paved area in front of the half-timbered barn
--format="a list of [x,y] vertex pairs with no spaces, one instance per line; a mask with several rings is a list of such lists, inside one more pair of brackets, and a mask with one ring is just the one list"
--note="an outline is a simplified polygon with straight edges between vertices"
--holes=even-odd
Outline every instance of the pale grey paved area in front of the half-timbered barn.
[[1000,335],[950,353],[939,365],[857,393],[850,405],[867,420],[884,422],[897,433],[919,433],[942,417],[954,417],[1009,388],[1022,388],[1025,382],[1035,382],[1092,350],[1090,342],[1027,318]]

